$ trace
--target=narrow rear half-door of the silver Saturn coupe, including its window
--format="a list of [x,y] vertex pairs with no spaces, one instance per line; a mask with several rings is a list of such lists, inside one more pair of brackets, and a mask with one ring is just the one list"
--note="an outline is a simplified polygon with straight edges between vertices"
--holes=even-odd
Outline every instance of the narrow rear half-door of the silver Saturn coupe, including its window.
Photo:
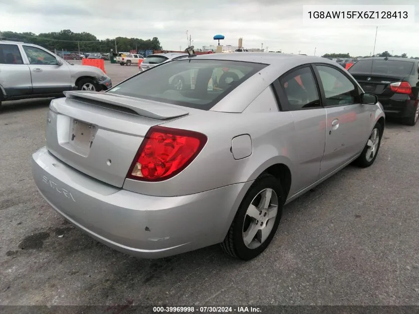
[[310,65],[288,71],[273,85],[282,111],[291,112],[294,118],[294,132],[289,136],[298,155],[297,174],[293,176],[293,190],[298,192],[319,179],[326,137],[322,127],[326,123],[326,110],[322,107],[319,86]]

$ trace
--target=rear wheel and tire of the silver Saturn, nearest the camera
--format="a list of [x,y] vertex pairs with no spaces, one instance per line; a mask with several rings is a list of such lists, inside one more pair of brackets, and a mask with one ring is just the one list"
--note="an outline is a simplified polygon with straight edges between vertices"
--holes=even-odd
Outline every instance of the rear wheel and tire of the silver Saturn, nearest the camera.
[[229,255],[250,260],[272,241],[282,215],[284,195],[274,176],[262,174],[251,185],[221,247]]

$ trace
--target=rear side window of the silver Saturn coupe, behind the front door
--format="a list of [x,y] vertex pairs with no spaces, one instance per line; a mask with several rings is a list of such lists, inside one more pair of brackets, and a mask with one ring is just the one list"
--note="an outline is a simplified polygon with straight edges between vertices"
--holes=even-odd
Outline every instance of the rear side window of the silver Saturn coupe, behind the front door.
[[308,66],[285,75],[280,82],[287,96],[290,110],[320,106],[317,85]]

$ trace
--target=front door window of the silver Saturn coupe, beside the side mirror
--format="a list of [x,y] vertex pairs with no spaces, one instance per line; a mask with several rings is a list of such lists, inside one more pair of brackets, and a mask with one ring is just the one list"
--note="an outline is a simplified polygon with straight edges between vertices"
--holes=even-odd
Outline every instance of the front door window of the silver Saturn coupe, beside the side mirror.
[[341,71],[324,65],[317,65],[326,96],[325,106],[351,105],[359,102],[358,88]]

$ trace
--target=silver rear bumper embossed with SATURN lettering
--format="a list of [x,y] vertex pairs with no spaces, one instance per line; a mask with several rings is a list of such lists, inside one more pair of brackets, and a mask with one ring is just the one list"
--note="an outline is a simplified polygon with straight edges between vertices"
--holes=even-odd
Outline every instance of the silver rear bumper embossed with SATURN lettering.
[[60,162],[46,147],[32,156],[41,195],[99,242],[131,255],[160,258],[224,240],[251,182],[176,197],[109,186]]

